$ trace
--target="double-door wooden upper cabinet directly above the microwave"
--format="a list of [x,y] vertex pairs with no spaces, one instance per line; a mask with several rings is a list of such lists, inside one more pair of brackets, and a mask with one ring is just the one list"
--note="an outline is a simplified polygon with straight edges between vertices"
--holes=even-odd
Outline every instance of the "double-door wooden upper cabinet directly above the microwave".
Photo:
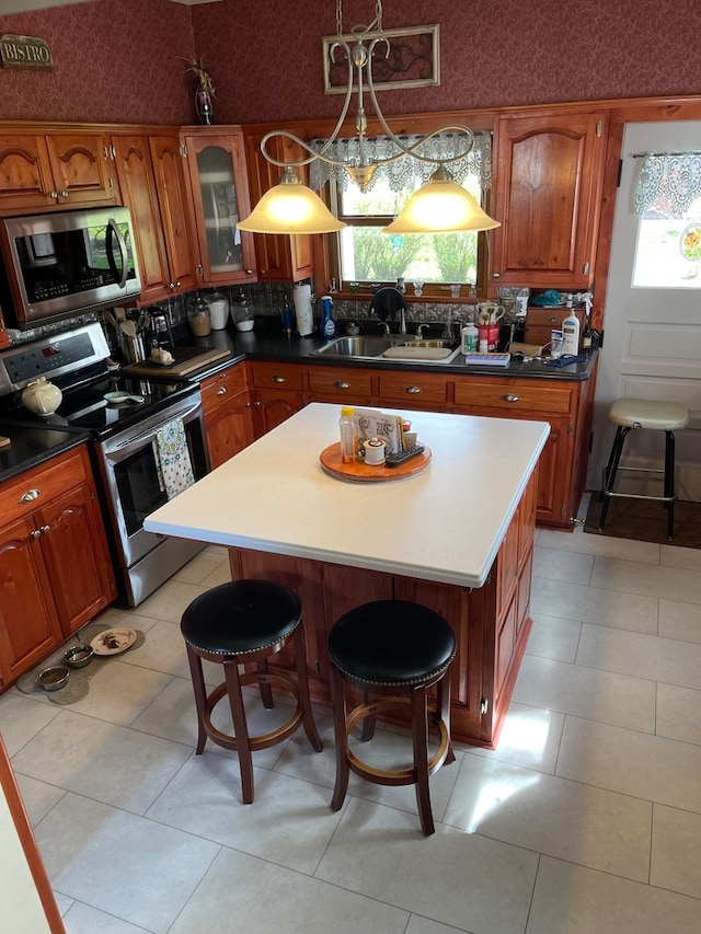
[[115,205],[110,138],[66,131],[32,134],[12,127],[0,136],[0,212],[68,210]]

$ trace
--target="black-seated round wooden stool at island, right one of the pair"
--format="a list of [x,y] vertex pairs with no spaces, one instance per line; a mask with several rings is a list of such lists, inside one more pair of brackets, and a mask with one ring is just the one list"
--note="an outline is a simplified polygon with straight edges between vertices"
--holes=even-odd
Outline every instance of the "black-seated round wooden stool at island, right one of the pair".
[[[438,613],[404,600],[379,600],[356,607],[334,623],[329,634],[331,694],[336,737],[336,784],[333,810],[343,805],[349,771],[378,785],[415,785],[416,804],[425,834],[433,833],[428,776],[455,761],[450,742],[450,679],[456,654],[455,633]],[[344,683],[364,693],[364,703],[346,715]],[[437,685],[436,706],[428,706],[428,689]],[[379,695],[379,700],[370,700]],[[354,726],[363,720],[361,739],[375,734],[377,712],[410,706],[413,768],[388,771],[358,759],[348,746]],[[438,730],[438,750],[428,758],[428,729]]]

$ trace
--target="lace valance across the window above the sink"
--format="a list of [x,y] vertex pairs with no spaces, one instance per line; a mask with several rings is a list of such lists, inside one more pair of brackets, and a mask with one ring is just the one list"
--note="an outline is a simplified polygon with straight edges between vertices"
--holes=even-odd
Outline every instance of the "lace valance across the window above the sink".
[[[424,137],[423,136],[402,136],[400,137],[405,146],[413,146]],[[464,134],[446,132],[433,137],[421,147],[418,150],[422,155],[432,158],[449,159],[466,148],[467,137]],[[326,140],[314,139],[311,146],[315,150],[321,150]],[[366,139],[366,152],[370,159],[379,160],[395,155],[401,152],[397,143],[387,136],[379,136],[372,139]],[[338,159],[344,162],[353,163],[359,161],[358,155],[358,139],[337,139],[325,150],[325,153],[332,159]],[[378,178],[383,178],[389,183],[390,191],[401,192],[407,184],[413,182],[417,176],[427,182],[438,166],[435,163],[422,162],[421,159],[415,159],[411,155],[405,155],[391,162],[387,165],[380,165],[375,173],[375,177],[368,185],[368,191],[372,189]],[[453,180],[458,184],[462,183],[468,175],[474,174],[480,178],[480,185],[483,191],[486,191],[492,185],[492,137],[489,132],[475,132],[474,146],[461,159],[450,162],[446,166]],[[314,191],[319,191],[330,180],[335,178],[343,191],[346,189],[349,178],[347,173],[341,166],[329,165],[320,159],[314,160],[309,169],[309,184]]]

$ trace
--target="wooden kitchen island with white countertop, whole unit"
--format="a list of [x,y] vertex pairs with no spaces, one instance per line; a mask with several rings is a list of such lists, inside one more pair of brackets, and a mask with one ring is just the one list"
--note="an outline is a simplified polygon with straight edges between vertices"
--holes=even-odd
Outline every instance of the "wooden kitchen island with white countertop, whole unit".
[[368,600],[432,607],[458,637],[453,738],[493,747],[530,630],[536,472],[549,426],[433,412],[412,418],[432,451],[418,475],[354,483],[327,474],[319,456],[336,440],[338,407],[314,403],[145,524],[223,545],[232,577],[277,579],[299,595],[312,693],[322,703],[335,619]]

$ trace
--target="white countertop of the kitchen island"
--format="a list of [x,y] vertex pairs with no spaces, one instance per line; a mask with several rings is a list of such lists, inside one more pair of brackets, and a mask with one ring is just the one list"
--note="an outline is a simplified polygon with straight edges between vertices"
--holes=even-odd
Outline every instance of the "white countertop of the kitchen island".
[[340,406],[312,403],[145,521],[150,532],[481,587],[550,434],[544,422],[401,412],[426,471],[359,483],[319,456]]

